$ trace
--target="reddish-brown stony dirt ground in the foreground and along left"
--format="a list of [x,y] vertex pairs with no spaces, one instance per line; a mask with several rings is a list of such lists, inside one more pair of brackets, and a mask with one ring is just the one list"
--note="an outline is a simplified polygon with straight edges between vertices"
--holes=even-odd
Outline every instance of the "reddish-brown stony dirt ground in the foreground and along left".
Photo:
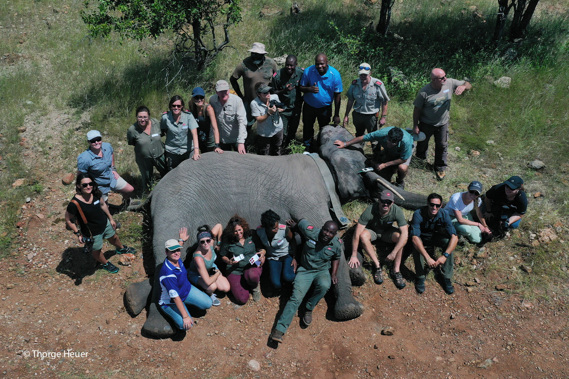
[[[64,118],[57,123],[65,124]],[[295,317],[278,346],[268,336],[287,291],[279,298],[265,282],[261,302],[238,307],[224,297],[221,306],[196,317],[187,333],[145,338],[140,332],[146,311],[132,318],[123,306],[126,286],[146,278],[141,251],[131,266],[119,265],[118,274],[85,257],[65,230],[73,189],[61,183],[65,172],[57,153],[40,151],[34,135],[23,136],[28,164],[47,179],[40,181],[46,190],[22,205],[18,248],[0,261],[3,377],[569,377],[566,299],[550,294],[549,302],[523,301],[485,284],[484,276],[471,287],[455,283],[453,295],[432,276],[423,295],[409,281],[403,290],[387,278],[383,285],[368,281],[353,288],[365,306],[362,316],[336,322],[326,298],[312,325],[303,329]],[[143,220],[129,212],[116,219]],[[104,249],[118,265],[114,250],[108,244]],[[382,335],[386,326],[394,328],[393,335]],[[260,370],[251,370],[250,360]]]

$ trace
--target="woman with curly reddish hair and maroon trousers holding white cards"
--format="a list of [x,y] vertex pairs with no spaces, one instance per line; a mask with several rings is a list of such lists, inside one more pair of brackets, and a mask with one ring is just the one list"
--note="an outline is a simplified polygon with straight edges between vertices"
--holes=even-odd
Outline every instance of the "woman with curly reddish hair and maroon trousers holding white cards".
[[[247,221],[234,215],[223,231],[219,252],[221,259],[228,265],[226,272],[231,293],[240,305],[249,300],[249,293],[253,294],[253,301],[261,301],[259,279],[265,263],[265,249],[257,251],[251,236]],[[250,260],[254,260],[254,263]]]

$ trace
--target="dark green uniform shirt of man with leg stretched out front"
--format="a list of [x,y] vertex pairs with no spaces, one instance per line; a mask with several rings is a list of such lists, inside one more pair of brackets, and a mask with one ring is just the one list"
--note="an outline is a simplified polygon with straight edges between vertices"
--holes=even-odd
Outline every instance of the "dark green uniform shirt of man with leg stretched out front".
[[306,239],[300,257],[300,266],[304,269],[329,270],[331,261],[340,259],[342,247],[338,236],[334,236],[328,244],[324,244],[318,240],[320,229],[304,219],[298,222],[298,230]]

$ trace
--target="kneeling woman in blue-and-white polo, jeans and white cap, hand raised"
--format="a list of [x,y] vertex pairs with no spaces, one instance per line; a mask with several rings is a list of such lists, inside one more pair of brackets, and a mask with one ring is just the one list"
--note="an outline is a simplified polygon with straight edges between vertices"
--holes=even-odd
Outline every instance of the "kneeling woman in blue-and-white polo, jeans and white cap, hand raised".
[[192,316],[186,304],[199,309],[212,307],[212,299],[188,281],[188,272],[180,259],[182,245],[188,240],[187,228],[180,229],[180,238],[167,240],[164,244],[166,259],[160,268],[160,300],[158,304],[178,329],[188,330],[193,326]]

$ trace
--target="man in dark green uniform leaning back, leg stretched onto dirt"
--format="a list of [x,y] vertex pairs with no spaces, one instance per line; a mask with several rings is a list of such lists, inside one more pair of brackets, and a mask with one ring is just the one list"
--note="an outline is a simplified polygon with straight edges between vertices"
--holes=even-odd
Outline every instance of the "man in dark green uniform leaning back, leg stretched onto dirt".
[[[336,236],[338,224],[335,222],[327,221],[321,229],[312,226],[305,219],[300,220],[298,224],[292,220],[287,220],[287,224],[290,227],[298,225],[298,231],[304,236],[305,242],[300,256],[300,264],[297,264],[298,257],[292,260],[292,266],[296,272],[296,277],[292,282],[292,295],[284,306],[277,326],[271,331],[270,338],[277,342],[283,341],[283,334],[290,326],[300,302],[314,284],[314,293],[306,302],[306,310],[302,318],[306,326],[312,323],[312,310],[324,297],[330,286],[338,282],[336,273],[342,253],[340,240]],[[332,275],[329,272],[330,266],[332,266]]]

